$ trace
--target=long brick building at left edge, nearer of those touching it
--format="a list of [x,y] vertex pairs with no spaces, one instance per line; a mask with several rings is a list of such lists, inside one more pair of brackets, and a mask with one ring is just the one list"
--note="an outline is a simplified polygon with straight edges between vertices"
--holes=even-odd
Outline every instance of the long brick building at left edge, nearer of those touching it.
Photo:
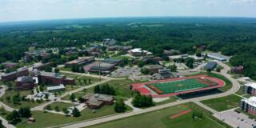
[[3,74],[1,76],[2,81],[14,81],[18,77],[26,76],[29,75],[29,70],[26,68],[18,69],[16,71],[10,72],[8,74]]

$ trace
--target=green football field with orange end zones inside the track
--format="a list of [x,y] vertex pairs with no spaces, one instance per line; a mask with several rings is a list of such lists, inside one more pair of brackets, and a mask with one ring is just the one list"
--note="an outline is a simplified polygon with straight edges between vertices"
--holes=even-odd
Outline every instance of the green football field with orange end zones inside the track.
[[[154,87],[152,88],[151,85],[153,85]],[[195,78],[190,78],[190,79],[184,79],[184,80],[177,80],[173,82],[153,83],[153,84],[148,84],[146,86],[150,87],[151,90],[154,90],[154,88],[156,88],[157,90],[161,91],[159,92],[154,90],[157,94],[173,94],[173,93],[178,93],[186,90],[195,90],[195,89],[205,88],[210,85],[206,85],[202,82],[199,82]]]

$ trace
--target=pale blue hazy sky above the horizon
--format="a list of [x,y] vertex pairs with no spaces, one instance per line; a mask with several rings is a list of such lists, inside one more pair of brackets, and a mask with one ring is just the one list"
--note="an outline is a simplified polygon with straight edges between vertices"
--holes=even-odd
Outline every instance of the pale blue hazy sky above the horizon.
[[155,16],[256,17],[256,0],[0,0],[0,22]]

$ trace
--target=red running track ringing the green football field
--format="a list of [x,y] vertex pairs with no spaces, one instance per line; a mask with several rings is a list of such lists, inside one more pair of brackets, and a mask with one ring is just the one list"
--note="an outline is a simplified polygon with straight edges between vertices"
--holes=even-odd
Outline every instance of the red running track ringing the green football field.
[[[151,91],[153,91],[153,90],[150,90],[150,89],[146,88],[146,86],[145,86],[146,84],[159,83],[159,82],[172,82],[172,81],[178,81],[178,80],[190,79],[190,78],[207,78],[213,82],[217,82],[218,85],[217,86],[209,86],[209,87],[196,89],[196,90],[186,90],[186,91],[181,91],[181,92],[172,93],[172,94],[152,94]],[[170,78],[170,79],[159,80],[159,81],[134,83],[134,84],[131,84],[130,86],[133,86],[133,90],[138,90],[143,95],[151,95],[153,98],[166,98],[166,97],[175,96],[178,94],[187,94],[187,93],[197,92],[200,90],[216,89],[216,88],[225,86],[225,84],[226,83],[224,81],[222,81],[221,79],[218,79],[218,78],[208,77],[207,75],[197,75],[197,76],[191,76],[191,77],[186,77],[186,78]]]

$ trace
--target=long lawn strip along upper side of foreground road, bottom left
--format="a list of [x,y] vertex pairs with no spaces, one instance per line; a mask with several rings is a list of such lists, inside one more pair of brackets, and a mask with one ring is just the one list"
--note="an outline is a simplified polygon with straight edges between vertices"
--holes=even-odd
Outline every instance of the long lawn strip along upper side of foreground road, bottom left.
[[85,110],[82,110],[81,116],[78,118],[66,117],[62,114],[44,113],[42,111],[33,111],[32,114],[36,119],[36,122],[32,124],[20,122],[16,126],[18,128],[43,128],[47,126],[56,126],[70,122],[79,122],[86,119],[98,118],[101,116],[115,114],[115,112],[114,106],[103,106],[101,109],[96,110],[95,114],[92,110],[86,108]]

